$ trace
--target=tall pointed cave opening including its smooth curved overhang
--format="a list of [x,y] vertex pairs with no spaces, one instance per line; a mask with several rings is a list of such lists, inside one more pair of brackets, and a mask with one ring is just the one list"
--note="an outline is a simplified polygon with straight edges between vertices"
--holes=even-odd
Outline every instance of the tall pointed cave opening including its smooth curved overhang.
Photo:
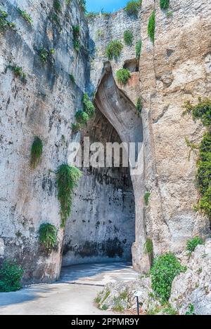
[[[117,88],[110,65],[105,66],[95,102],[96,115],[82,132],[82,140],[89,136],[91,143],[103,145],[143,142],[142,122],[136,107]],[[130,168],[123,166],[89,167],[83,168],[83,172],[71,220],[65,229],[63,266],[132,260],[137,231],[134,186],[139,186],[141,180],[132,177]]]

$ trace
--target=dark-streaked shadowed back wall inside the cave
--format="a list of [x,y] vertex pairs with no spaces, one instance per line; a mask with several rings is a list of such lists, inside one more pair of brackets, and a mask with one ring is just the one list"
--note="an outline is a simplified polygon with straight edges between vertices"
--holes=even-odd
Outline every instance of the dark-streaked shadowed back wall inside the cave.
[[[96,109],[93,121],[83,131],[90,143],[118,142],[119,135]],[[83,140],[82,140],[83,142]],[[134,193],[129,168],[83,168],[67,222],[63,266],[93,262],[132,260],[135,239]]]

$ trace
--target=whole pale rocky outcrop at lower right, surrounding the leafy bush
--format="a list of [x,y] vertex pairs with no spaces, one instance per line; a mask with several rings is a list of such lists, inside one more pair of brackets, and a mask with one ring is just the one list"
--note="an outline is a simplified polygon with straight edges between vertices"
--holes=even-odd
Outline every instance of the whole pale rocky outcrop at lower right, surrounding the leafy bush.
[[[187,260],[188,257],[188,260]],[[187,252],[180,255],[181,263],[187,270],[179,274],[172,283],[172,293],[169,304],[160,304],[159,298],[151,288],[151,277],[140,276],[136,281],[127,283],[110,283],[96,297],[100,309],[136,309],[134,294],[141,293],[139,302],[141,311],[145,314],[180,314],[185,315],[190,305],[198,315],[211,314],[211,239],[198,246],[188,256]]]

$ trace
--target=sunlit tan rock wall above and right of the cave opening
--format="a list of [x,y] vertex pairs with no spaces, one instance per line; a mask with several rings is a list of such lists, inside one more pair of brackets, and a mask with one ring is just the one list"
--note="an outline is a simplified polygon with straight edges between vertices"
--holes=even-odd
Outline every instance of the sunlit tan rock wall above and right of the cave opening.
[[[153,10],[154,46],[147,32]],[[106,46],[110,41],[118,39],[124,43],[124,30],[134,33],[132,47],[124,46],[120,58],[110,61],[115,80],[117,69],[134,59],[135,42],[142,41],[139,72],[132,73],[127,86],[115,81],[134,105],[139,96],[143,100],[144,152],[140,160],[144,170],[142,177],[134,179],[136,243],[132,252],[134,267],[141,271],[149,265],[143,250],[146,238],[152,239],[155,254],[167,250],[179,253],[187,239],[207,236],[210,231],[209,220],[193,210],[198,200],[194,184],[197,156],[191,154],[188,161],[185,142],[188,137],[199,143],[204,130],[200,123],[182,116],[186,100],[210,96],[209,13],[210,2],[206,0],[200,4],[195,0],[172,0],[168,11],[160,10],[159,1],[147,0],[137,18],[123,10],[106,17],[99,15],[89,22],[91,88],[101,88],[105,75],[102,62],[108,62]],[[112,108],[107,110],[108,118],[114,115]],[[126,115],[126,123],[128,118]],[[125,131],[119,126],[117,132],[127,135],[131,128]],[[151,193],[149,206],[143,203],[145,192]]]

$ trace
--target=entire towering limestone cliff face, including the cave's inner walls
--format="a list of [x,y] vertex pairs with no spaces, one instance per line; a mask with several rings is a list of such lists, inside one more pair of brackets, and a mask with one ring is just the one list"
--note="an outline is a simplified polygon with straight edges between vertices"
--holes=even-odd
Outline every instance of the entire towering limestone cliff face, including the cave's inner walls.
[[[134,242],[134,268],[147,272],[146,239],[153,241],[157,255],[181,253],[187,239],[207,237],[209,220],[193,211],[197,156],[192,153],[188,161],[185,142],[185,137],[200,142],[203,126],[181,114],[184,101],[210,96],[210,1],[171,0],[167,13],[159,1],[145,0],[137,17],[122,10],[89,22],[77,0],[63,1],[60,11],[52,1],[23,0],[18,6],[28,11],[33,24],[20,15],[15,1],[4,1],[16,28],[1,32],[0,40],[0,260],[16,258],[25,269],[25,283],[52,281],[59,276],[62,258],[65,265],[126,259]],[[153,45],[147,26],[154,9]],[[79,53],[73,45],[74,25],[80,27]],[[132,46],[124,45],[120,58],[108,61],[106,46],[114,39],[124,44],[126,29],[134,34]],[[40,48],[54,49],[46,64]],[[26,82],[8,65],[23,67]],[[132,75],[126,86],[116,81],[122,67]],[[85,91],[90,96],[96,92],[96,116],[73,134],[71,124]],[[136,113],[139,97],[141,118]],[[44,152],[32,170],[35,136],[43,141]],[[93,142],[139,142],[139,172],[82,168],[64,231],[55,171],[67,163],[70,142],[84,136]],[[151,195],[148,206],[146,192]],[[51,255],[39,246],[38,229],[44,222],[58,229],[58,249]]]

